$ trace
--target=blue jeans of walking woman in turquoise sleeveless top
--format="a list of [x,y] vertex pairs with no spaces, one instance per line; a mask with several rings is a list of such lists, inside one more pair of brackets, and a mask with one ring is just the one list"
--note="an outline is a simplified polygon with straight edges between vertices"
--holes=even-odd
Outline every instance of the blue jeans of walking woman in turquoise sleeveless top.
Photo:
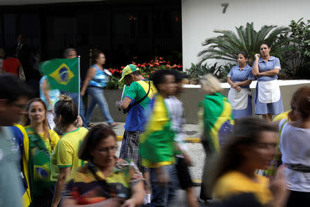
[[90,118],[92,118],[92,112],[94,112],[94,108],[97,104],[105,117],[105,121],[111,125],[114,120],[110,115],[109,107],[107,106],[107,102],[105,100],[105,96],[103,96],[103,89],[97,87],[88,87],[87,94],[92,96],[92,102],[90,102],[90,106],[87,109],[86,120],[90,122]]

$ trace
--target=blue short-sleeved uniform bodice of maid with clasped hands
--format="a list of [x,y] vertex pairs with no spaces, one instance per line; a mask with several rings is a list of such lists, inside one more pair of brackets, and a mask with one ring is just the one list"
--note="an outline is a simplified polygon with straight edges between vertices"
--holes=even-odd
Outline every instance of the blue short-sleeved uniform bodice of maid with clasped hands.
[[[240,65],[232,67],[227,77],[230,77],[234,83],[240,83],[245,80],[255,80],[255,77],[252,74],[252,67],[249,65],[246,65],[241,70]],[[249,85],[242,85],[240,87],[249,88]]]

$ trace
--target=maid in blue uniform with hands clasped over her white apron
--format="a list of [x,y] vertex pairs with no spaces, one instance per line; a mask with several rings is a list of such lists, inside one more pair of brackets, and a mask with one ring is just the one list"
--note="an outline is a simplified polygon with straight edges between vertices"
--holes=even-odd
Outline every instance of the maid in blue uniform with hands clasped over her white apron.
[[227,83],[231,85],[228,92],[228,101],[233,109],[234,119],[252,116],[252,96],[249,85],[255,79],[252,68],[247,65],[248,54],[238,54],[238,65],[231,68],[227,75]]

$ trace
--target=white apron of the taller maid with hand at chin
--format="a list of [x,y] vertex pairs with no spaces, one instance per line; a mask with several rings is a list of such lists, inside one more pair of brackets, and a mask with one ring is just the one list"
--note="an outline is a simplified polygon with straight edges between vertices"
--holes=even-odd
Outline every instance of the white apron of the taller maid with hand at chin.
[[280,100],[280,87],[277,80],[258,81],[258,100],[262,103]]

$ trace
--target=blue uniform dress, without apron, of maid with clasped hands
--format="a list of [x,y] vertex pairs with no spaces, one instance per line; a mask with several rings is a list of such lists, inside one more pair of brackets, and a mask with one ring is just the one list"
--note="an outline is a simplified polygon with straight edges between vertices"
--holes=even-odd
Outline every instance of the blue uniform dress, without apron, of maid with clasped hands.
[[[240,70],[240,66],[234,66],[231,68],[227,77],[230,77],[234,83],[239,83],[245,80],[255,80],[254,75],[252,74],[252,67],[246,65],[242,70]],[[249,85],[240,86],[243,89],[249,89]],[[229,90],[236,90],[232,87]],[[252,116],[252,96],[247,96],[247,108],[236,110],[233,108],[233,116],[234,118],[242,118],[245,116]]]

